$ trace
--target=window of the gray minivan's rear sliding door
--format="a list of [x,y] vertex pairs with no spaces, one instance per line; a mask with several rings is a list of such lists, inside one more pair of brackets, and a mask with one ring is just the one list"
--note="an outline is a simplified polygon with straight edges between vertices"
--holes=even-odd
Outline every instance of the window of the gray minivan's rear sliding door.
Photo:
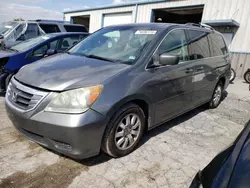
[[190,60],[210,57],[208,33],[196,30],[187,30],[189,36]]

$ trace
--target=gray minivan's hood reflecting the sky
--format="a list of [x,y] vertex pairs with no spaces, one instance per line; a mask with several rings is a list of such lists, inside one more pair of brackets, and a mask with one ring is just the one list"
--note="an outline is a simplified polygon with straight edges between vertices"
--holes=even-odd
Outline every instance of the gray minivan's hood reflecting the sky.
[[37,88],[63,91],[102,84],[128,67],[83,56],[58,54],[23,67],[15,78]]

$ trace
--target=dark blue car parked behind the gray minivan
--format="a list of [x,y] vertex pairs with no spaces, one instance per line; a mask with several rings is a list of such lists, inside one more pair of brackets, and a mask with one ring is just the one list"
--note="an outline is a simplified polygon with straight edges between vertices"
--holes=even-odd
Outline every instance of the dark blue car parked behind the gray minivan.
[[24,65],[46,56],[65,52],[88,33],[53,33],[39,36],[0,51],[0,92],[6,91],[10,78]]

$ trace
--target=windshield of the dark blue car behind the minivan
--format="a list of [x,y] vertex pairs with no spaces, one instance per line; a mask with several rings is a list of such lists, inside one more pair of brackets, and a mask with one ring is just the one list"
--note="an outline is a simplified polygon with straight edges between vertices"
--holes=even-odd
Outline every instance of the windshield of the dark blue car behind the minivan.
[[40,44],[40,43],[42,43],[50,38],[52,38],[52,35],[39,36],[39,37],[32,38],[32,39],[26,40],[24,42],[21,42],[15,46],[12,46],[10,49],[15,50],[15,51],[19,51],[19,52],[20,51],[24,52],[24,51],[29,50],[30,48],[33,48],[37,44]]

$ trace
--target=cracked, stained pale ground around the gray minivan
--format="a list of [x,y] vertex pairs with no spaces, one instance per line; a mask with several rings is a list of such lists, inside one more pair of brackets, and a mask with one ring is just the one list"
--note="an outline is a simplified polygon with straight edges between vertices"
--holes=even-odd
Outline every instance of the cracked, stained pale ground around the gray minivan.
[[199,108],[150,131],[131,155],[76,162],[20,135],[0,97],[0,187],[187,187],[243,129],[249,105],[248,85],[236,80],[217,109]]

